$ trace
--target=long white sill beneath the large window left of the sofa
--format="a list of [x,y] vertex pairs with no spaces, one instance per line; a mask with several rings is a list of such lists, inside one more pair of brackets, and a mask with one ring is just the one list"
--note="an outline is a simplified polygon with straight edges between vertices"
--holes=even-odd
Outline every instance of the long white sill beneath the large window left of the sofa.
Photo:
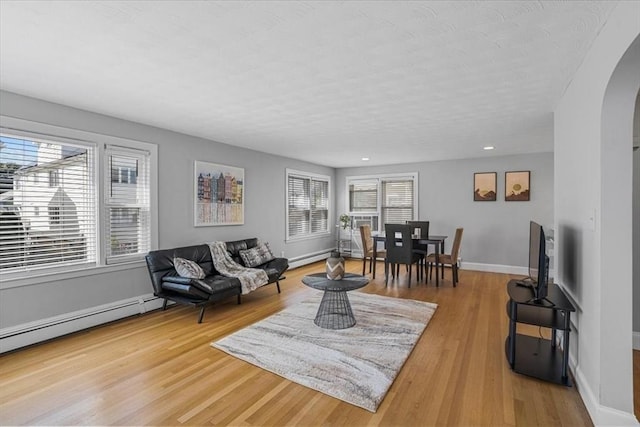
[[[58,282],[61,280],[75,279],[78,277],[95,276],[97,274],[107,274],[115,271],[131,270],[134,268],[144,267],[144,260],[136,260],[130,262],[123,262],[114,265],[101,265],[82,267],[78,266],[74,270],[67,269],[61,272],[52,273],[51,271],[42,270],[37,274],[33,274],[29,277],[15,277],[6,279],[3,277],[2,283],[0,283],[0,290],[19,288],[23,286],[40,285],[48,282]],[[74,268],[69,267],[69,268]]]

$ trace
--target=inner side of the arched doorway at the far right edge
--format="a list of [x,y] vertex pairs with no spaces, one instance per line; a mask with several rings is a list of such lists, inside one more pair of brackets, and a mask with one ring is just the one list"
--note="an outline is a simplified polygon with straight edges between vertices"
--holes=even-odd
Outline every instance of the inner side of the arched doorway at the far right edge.
[[[602,104],[600,404],[633,411],[633,117],[640,90],[640,37],[611,75]],[[638,254],[636,254],[638,256]]]

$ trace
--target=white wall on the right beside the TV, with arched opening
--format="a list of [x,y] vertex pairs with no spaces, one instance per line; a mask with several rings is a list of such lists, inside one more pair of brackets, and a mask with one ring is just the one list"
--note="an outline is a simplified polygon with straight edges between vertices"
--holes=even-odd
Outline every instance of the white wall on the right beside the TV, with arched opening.
[[557,281],[577,305],[572,364],[595,424],[635,423],[630,152],[640,64],[637,49],[623,55],[639,16],[639,2],[618,4],[554,117]]

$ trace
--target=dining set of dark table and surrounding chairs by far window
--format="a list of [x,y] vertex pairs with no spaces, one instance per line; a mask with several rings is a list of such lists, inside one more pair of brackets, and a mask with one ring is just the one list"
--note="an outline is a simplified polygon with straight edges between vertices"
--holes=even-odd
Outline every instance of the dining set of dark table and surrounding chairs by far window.
[[[376,277],[376,264],[384,262],[385,286],[391,280],[398,284],[406,283],[410,288],[413,278],[415,283],[435,283],[445,280],[445,267],[451,267],[453,287],[458,283],[458,256],[464,229],[455,230],[450,253],[445,252],[448,235],[436,235],[429,232],[429,221],[406,221],[404,224],[384,224],[379,232],[373,232],[369,224],[359,227],[362,241],[362,275],[366,273],[369,262],[369,273]],[[380,247],[382,246],[382,248]],[[404,265],[403,269],[400,266]],[[415,274],[414,269],[415,267]],[[401,274],[401,270],[404,273]],[[435,281],[433,276],[435,270]]]

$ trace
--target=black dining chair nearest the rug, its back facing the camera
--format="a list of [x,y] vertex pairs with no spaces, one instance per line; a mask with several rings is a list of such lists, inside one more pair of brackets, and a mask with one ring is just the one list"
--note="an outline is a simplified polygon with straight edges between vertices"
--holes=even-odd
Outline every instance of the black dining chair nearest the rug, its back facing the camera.
[[[384,284],[387,285],[389,281],[389,264],[391,264],[392,277],[399,276],[399,271],[396,266],[405,264],[408,269],[408,284],[411,287],[411,266],[416,264],[416,268],[419,268],[418,262],[420,256],[413,252],[413,239],[411,233],[413,229],[407,224],[385,224],[385,249],[387,256],[384,259]],[[400,237],[398,238],[398,235]]]

